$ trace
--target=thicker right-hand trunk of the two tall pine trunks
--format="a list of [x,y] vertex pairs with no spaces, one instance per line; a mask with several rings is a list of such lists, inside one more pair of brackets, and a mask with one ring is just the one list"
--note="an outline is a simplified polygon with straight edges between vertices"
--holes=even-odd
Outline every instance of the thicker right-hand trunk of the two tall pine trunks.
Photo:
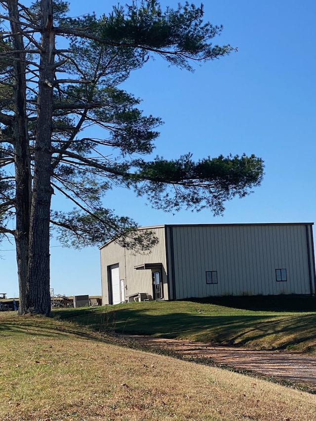
[[52,194],[50,178],[55,34],[52,23],[52,0],[41,0],[40,5],[42,51],[30,219],[28,311],[49,315],[49,221]]

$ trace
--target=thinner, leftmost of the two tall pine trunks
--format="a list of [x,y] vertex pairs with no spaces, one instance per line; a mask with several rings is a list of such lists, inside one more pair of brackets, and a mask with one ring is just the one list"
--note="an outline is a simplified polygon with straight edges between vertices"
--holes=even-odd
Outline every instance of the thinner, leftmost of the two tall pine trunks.
[[14,66],[14,157],[15,157],[15,208],[16,208],[16,258],[18,267],[20,307],[26,309],[28,285],[27,268],[31,210],[31,170],[29,155],[28,119],[26,114],[26,63],[22,31],[19,25],[18,1],[7,2],[11,18],[11,32],[15,60]]

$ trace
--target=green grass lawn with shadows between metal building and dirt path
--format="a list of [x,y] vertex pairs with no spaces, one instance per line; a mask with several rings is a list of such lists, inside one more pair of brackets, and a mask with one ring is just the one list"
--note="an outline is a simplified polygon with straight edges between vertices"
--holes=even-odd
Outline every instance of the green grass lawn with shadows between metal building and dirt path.
[[316,353],[315,297],[143,302],[58,309],[53,314],[98,332]]

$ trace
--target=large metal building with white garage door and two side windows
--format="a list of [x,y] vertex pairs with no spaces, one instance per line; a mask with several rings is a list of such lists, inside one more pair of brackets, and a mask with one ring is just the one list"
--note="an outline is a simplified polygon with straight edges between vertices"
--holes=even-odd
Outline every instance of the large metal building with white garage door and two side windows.
[[102,302],[316,293],[313,223],[162,225],[150,252],[100,247]]

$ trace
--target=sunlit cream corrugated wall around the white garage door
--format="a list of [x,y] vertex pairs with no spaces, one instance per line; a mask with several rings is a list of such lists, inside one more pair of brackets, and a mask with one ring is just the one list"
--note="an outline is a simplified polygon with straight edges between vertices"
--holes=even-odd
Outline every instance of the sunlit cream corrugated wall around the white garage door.
[[136,270],[134,267],[145,263],[161,264],[164,298],[166,300],[169,299],[164,227],[149,228],[149,230],[153,231],[158,237],[158,244],[150,252],[136,253],[121,247],[115,241],[100,248],[102,303],[112,304],[112,297],[109,297],[111,290],[109,292],[110,277],[108,268],[115,264],[119,266],[120,279],[124,279],[125,298],[140,292],[146,292],[152,296],[152,271],[150,269]]

